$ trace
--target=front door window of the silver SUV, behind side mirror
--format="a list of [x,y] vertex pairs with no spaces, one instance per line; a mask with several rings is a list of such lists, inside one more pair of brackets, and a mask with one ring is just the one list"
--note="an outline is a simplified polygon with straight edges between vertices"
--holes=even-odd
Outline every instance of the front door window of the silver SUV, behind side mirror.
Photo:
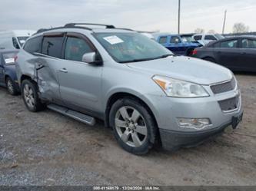
[[68,37],[65,47],[65,59],[71,61],[81,61],[82,56],[91,51],[90,46],[83,39]]

